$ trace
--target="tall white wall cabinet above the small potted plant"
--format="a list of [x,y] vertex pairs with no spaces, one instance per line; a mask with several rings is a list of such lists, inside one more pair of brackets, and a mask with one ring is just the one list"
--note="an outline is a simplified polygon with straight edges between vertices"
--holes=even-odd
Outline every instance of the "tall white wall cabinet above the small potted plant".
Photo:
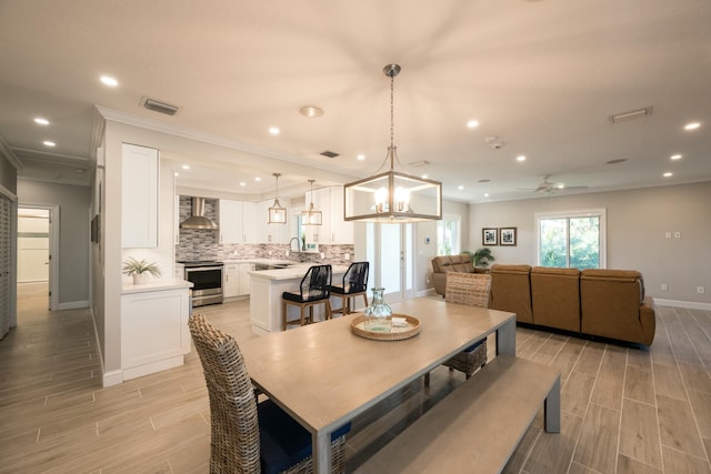
[[121,149],[121,246],[158,246],[158,150],[123,143]]

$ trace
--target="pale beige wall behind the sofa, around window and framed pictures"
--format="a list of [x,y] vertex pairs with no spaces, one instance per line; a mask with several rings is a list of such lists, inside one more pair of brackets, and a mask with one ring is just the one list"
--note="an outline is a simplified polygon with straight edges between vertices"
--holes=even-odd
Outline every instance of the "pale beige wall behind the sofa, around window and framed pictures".
[[[471,204],[469,245],[482,246],[482,228],[517,226],[517,246],[491,248],[494,263],[535,265],[537,212],[600,208],[607,210],[608,269],[640,271],[657,299],[711,303],[711,182]],[[667,232],[681,239],[665,239]],[[704,294],[697,293],[700,285]]]

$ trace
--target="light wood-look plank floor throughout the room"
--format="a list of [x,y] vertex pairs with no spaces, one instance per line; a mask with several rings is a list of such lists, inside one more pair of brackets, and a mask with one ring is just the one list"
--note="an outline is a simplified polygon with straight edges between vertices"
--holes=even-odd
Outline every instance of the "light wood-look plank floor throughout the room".
[[[210,413],[200,361],[101,387],[87,310],[22,299],[0,341],[0,473],[206,473]],[[239,341],[249,304],[201,309]],[[493,344],[490,352],[493,355]],[[711,312],[659,307],[650,350],[530,329],[518,355],[562,373],[562,432],[542,413],[507,473],[711,473]],[[352,470],[463,381],[439,367],[353,420]]]

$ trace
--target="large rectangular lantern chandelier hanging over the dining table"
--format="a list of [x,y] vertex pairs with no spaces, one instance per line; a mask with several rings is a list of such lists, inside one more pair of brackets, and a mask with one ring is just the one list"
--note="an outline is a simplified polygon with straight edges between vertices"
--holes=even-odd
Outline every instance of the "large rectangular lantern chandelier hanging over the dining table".
[[401,223],[442,219],[442,183],[394,171],[394,78],[400,69],[399,64],[388,64],[382,70],[390,78],[390,147],[385,157],[390,171],[343,186],[346,221]]

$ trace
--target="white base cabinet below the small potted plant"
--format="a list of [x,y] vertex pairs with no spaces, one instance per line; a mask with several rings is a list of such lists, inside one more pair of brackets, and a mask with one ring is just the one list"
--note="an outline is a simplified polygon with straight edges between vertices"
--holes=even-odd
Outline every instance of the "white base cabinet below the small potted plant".
[[121,295],[123,380],[182,365],[190,352],[188,288],[147,286]]

